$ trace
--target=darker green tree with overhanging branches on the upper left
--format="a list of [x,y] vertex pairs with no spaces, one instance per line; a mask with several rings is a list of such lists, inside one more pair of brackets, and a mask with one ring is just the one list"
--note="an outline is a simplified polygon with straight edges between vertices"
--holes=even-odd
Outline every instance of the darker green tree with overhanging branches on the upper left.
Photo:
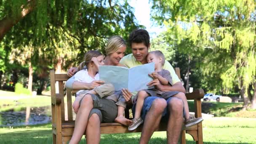
[[141,27],[126,0],[0,0],[0,19],[5,65],[13,49],[25,53],[29,46],[27,64],[42,76],[49,68],[79,63],[88,50],[104,52],[108,37],[127,39]]

